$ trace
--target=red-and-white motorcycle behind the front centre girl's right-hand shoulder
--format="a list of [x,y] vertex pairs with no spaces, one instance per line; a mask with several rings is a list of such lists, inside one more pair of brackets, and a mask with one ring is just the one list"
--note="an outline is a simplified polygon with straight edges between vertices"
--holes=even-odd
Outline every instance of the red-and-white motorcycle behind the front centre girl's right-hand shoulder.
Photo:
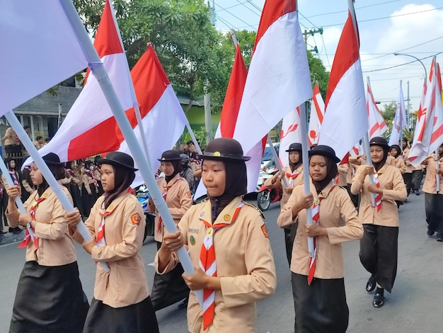
[[260,168],[260,174],[257,181],[257,205],[262,211],[267,210],[271,203],[280,201],[280,188],[266,188],[264,185],[266,179],[274,176],[277,172],[277,166],[275,166],[272,160],[264,162]]

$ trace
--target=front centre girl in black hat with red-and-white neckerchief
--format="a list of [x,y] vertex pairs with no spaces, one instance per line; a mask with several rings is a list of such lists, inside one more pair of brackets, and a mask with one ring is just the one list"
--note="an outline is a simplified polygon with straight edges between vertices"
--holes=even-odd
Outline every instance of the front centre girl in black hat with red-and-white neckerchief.
[[[192,333],[254,332],[255,302],[275,292],[272,250],[262,215],[242,199],[246,164],[241,145],[219,138],[202,157],[202,181],[209,200],[193,205],[166,233],[154,265],[166,273],[178,263],[176,250],[188,245],[195,273],[183,274],[192,290],[188,331]],[[194,290],[204,290],[205,312]]]

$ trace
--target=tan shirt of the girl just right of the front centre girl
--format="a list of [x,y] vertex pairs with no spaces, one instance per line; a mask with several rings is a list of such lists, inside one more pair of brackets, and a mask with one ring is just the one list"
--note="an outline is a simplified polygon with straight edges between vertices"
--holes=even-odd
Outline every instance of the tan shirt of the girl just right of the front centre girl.
[[[357,218],[357,210],[355,210],[347,191],[340,186],[335,186],[330,191],[331,185],[323,188],[323,191],[318,195],[318,198],[322,198],[318,208],[318,225],[327,228],[328,237],[317,237],[316,271],[314,273],[316,278],[343,278],[341,243],[363,237],[362,223]],[[311,193],[317,197],[313,184],[311,184]],[[287,227],[298,219],[299,227],[292,248],[291,271],[307,276],[310,256],[305,232],[306,209],[300,210],[297,217],[292,219],[292,206],[303,196],[303,186],[294,188],[291,198],[277,218],[277,224],[280,227]],[[345,221],[343,226],[340,225],[340,217]]]

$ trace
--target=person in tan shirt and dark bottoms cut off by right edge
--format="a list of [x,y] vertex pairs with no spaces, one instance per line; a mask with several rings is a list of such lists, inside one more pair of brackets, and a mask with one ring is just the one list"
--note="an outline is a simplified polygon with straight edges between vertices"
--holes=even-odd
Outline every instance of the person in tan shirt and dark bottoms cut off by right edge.
[[[422,162],[427,166],[423,192],[425,192],[427,235],[432,236],[437,232],[437,241],[443,242],[443,144],[438,147],[438,153],[437,157],[433,153]],[[440,184],[438,189],[436,188],[437,177]]]

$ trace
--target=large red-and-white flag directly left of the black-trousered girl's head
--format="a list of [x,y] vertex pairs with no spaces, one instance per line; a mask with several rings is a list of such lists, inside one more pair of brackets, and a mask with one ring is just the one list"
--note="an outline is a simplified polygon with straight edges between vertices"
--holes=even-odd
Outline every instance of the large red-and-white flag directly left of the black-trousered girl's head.
[[328,145],[339,159],[369,130],[364,98],[359,35],[354,4],[349,1],[347,21],[338,42],[326,93],[325,118],[319,145]]

